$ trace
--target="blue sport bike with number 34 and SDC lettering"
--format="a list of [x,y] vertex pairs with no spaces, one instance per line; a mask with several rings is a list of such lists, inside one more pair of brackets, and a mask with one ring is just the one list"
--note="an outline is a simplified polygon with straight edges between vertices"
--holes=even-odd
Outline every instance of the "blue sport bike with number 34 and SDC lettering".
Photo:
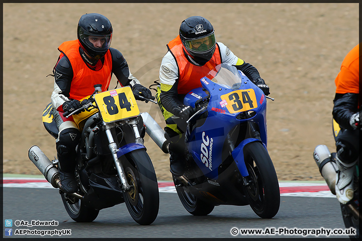
[[184,98],[197,112],[187,121],[186,171],[173,176],[180,201],[193,215],[250,205],[259,217],[274,217],[280,189],[266,149],[270,97],[230,64],[216,66],[201,83]]

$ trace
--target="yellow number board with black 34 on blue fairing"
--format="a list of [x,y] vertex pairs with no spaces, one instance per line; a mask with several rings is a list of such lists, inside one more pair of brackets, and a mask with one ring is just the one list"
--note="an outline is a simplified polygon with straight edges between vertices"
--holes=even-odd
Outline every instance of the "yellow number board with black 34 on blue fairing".
[[[247,111],[257,107],[253,89],[238,89],[220,96],[230,113]],[[223,105],[225,106],[225,105]]]

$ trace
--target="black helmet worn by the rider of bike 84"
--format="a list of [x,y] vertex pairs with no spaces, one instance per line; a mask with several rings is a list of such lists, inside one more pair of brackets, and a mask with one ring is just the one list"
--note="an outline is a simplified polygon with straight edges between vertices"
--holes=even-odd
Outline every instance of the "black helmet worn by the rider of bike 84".
[[[94,59],[102,58],[111,46],[112,24],[101,14],[84,14],[80,17],[77,28],[78,40],[84,51]],[[90,41],[89,36],[101,37],[102,47],[96,48]]]

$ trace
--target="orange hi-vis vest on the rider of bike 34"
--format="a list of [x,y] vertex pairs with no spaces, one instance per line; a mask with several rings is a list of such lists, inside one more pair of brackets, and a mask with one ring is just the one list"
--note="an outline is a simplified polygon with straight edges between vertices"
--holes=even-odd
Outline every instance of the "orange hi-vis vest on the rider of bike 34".
[[189,62],[184,54],[183,44],[179,35],[167,44],[167,48],[175,58],[178,67],[178,94],[187,94],[192,89],[201,87],[200,79],[205,77],[216,65],[221,64],[218,44],[216,44],[212,58],[203,66],[197,66]]

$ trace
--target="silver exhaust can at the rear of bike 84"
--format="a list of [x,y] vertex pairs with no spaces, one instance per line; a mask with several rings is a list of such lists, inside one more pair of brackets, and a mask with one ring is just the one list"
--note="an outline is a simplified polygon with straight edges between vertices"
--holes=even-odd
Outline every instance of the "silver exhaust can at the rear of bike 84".
[[38,146],[32,146],[29,149],[29,159],[44,175],[45,179],[54,187],[58,188],[59,171],[56,166],[45,156]]

